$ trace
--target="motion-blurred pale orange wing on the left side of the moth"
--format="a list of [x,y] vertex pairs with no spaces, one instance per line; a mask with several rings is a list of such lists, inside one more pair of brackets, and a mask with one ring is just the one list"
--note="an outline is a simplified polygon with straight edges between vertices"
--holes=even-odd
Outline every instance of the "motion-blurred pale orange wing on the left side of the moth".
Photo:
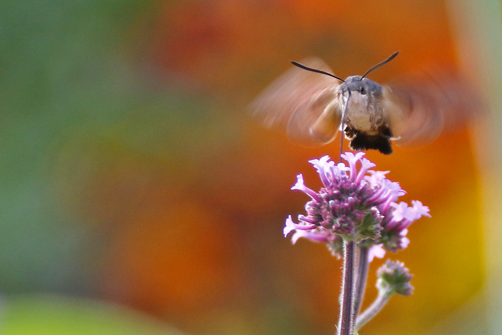
[[[319,58],[304,59],[301,63],[331,71]],[[249,109],[265,127],[286,130],[293,142],[323,145],[334,139],[340,125],[338,85],[335,78],[295,66],[260,93]]]

